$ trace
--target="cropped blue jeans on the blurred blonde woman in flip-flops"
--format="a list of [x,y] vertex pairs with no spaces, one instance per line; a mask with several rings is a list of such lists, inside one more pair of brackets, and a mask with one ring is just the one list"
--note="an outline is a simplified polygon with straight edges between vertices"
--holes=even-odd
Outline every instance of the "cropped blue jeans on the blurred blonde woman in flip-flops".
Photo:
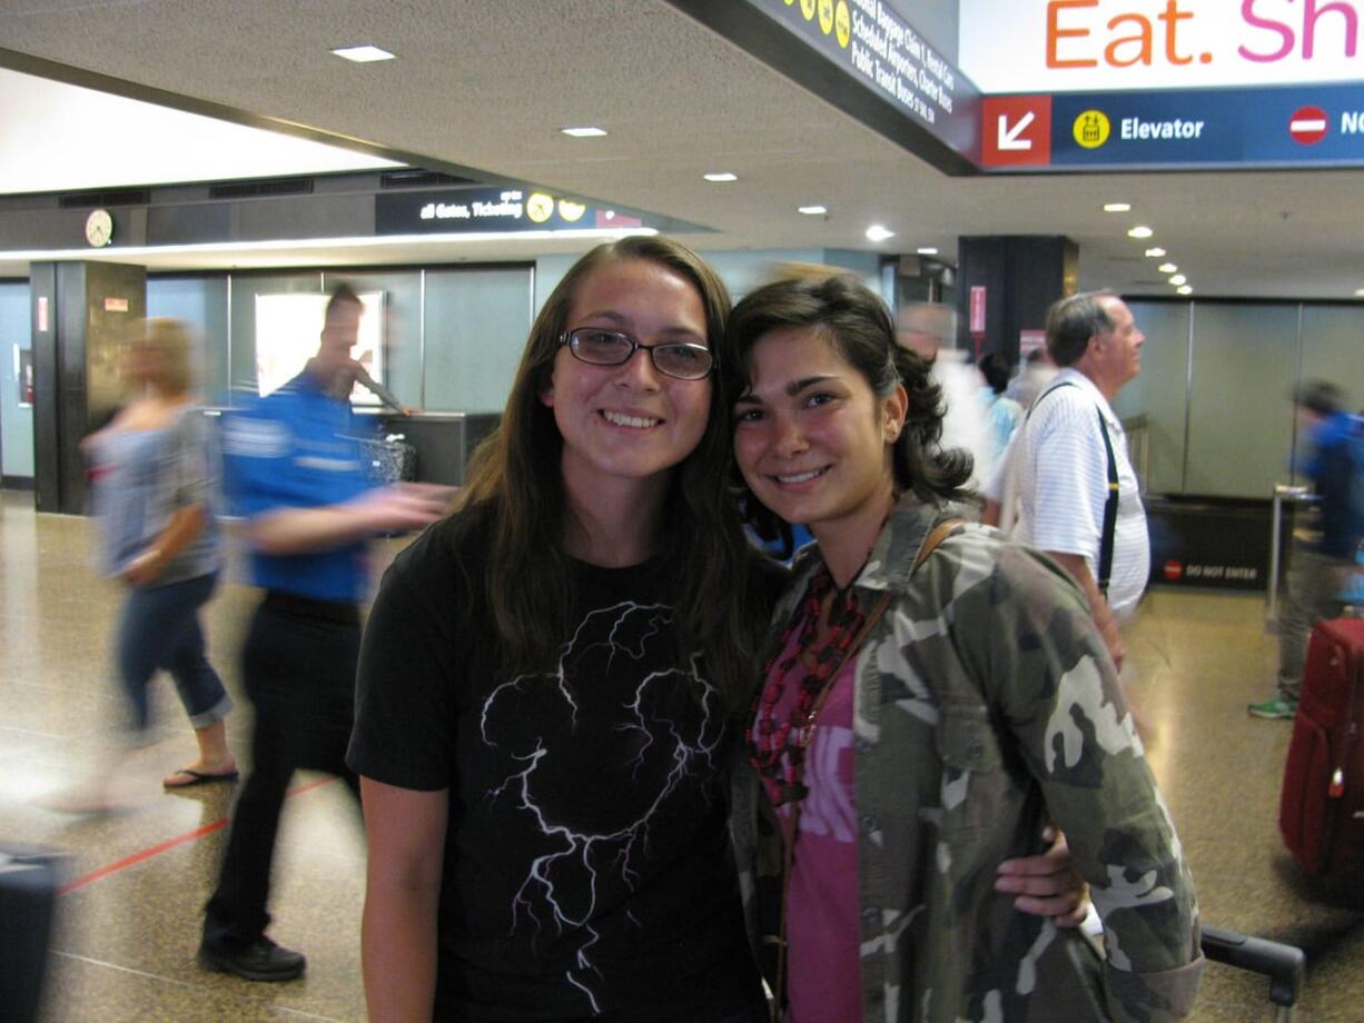
[[195,728],[221,722],[232,711],[232,697],[203,656],[199,627],[199,608],[209,602],[217,581],[218,574],[210,572],[164,587],[128,588],[115,632],[115,656],[138,735],[147,730],[147,686],[157,668],[170,672]]

